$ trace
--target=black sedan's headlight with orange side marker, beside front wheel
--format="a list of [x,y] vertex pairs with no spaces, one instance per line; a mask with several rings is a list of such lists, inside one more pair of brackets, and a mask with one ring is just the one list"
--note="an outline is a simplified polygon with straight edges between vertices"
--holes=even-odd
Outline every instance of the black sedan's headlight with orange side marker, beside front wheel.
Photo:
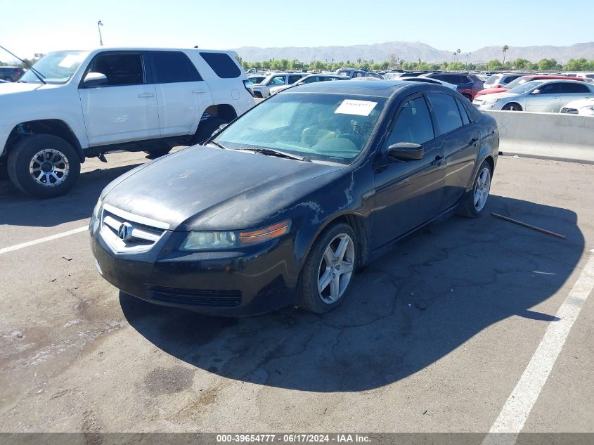
[[264,243],[288,233],[291,221],[281,221],[265,228],[250,231],[190,232],[180,250],[231,249]]

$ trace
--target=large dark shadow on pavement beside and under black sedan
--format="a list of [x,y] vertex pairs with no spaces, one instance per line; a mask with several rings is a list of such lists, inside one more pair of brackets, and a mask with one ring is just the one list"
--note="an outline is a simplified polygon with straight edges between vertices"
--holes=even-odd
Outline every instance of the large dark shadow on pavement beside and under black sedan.
[[213,318],[124,294],[120,304],[155,346],[226,378],[317,392],[381,387],[430,366],[504,318],[557,320],[531,308],[560,290],[579,263],[584,240],[576,214],[496,195],[487,206],[478,219],[453,217],[400,243],[359,273],[347,299],[329,314],[288,308]]

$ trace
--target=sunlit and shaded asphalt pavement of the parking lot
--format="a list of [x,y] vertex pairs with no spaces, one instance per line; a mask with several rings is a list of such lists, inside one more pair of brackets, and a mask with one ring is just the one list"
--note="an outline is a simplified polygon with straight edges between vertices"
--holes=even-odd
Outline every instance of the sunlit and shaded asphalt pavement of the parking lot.
[[[6,251],[84,227],[146,161],[108,160],[53,200],[0,181],[3,432],[487,432],[594,247],[594,165],[500,157],[487,214],[404,241],[330,314],[209,318],[119,295],[82,229]],[[594,432],[593,326],[590,297],[524,432]]]

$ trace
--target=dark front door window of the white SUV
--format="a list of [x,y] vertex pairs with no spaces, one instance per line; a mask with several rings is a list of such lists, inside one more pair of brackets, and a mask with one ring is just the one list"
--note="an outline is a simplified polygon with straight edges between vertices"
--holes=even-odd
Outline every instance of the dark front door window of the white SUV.
[[144,83],[144,70],[140,53],[98,54],[89,68],[108,78],[108,85],[138,85]]

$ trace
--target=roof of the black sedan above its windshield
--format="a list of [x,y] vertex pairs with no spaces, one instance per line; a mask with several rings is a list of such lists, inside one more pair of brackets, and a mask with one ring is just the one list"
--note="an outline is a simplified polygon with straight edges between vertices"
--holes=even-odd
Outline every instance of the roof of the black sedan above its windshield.
[[344,82],[315,82],[313,84],[302,84],[288,89],[285,93],[334,93],[352,94],[354,96],[375,96],[389,98],[395,93],[406,91],[444,91],[451,93],[452,89],[438,84],[426,84],[423,82],[405,82],[399,80],[377,79],[373,82],[368,80],[351,79]]

